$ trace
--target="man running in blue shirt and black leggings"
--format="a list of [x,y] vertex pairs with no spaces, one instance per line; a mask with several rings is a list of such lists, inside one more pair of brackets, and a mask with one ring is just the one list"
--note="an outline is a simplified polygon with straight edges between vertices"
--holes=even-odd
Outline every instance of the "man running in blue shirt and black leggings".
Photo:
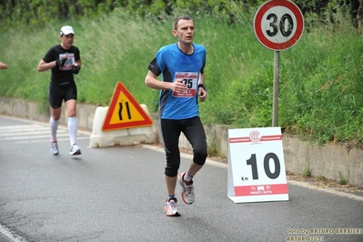
[[[161,47],[148,66],[145,84],[160,90],[159,119],[161,136],[166,151],[166,216],[180,216],[175,197],[176,181],[181,185],[182,200],[194,203],[193,176],[207,159],[207,137],[199,118],[198,99],[207,98],[204,87],[206,48],[193,43],[194,20],[189,16],[177,17],[173,22],[173,35],[177,43]],[[162,74],[162,80],[156,79]],[[193,148],[193,161],[187,172],[179,173],[181,132]]]

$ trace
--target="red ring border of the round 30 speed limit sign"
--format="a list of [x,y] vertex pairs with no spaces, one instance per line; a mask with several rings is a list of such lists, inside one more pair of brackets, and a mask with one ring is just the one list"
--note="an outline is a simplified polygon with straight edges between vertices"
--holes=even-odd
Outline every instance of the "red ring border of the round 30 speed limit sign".
[[[263,17],[263,15],[265,15],[267,10],[270,9],[271,7],[279,6],[279,5],[287,7],[291,12],[293,12],[293,14],[295,15],[295,17],[297,19],[297,31],[287,42],[284,42],[284,43],[274,43],[274,42],[268,40],[267,37],[263,34],[262,29],[259,27],[262,22],[262,17]],[[302,25],[302,26],[300,27],[299,25]],[[266,46],[267,48],[269,48],[271,50],[276,50],[276,51],[285,50],[285,49],[297,44],[297,41],[300,39],[300,37],[304,31],[304,17],[302,15],[300,9],[297,7],[297,5],[295,5],[294,3],[290,2],[290,1],[287,1],[287,0],[268,1],[265,4],[261,5],[257,10],[257,13],[255,15],[255,20],[254,20],[254,30],[255,30],[255,34],[257,36],[258,41],[262,45]]]

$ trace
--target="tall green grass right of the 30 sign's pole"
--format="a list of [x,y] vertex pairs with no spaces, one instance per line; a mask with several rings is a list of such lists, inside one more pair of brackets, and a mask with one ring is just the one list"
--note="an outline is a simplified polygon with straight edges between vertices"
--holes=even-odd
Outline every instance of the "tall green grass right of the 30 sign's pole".
[[287,52],[300,57],[282,67],[282,78],[289,81],[281,87],[281,122],[287,132],[318,144],[357,144],[362,132],[363,76],[358,55],[362,41],[342,19],[341,24],[321,25],[306,34],[302,43]]

